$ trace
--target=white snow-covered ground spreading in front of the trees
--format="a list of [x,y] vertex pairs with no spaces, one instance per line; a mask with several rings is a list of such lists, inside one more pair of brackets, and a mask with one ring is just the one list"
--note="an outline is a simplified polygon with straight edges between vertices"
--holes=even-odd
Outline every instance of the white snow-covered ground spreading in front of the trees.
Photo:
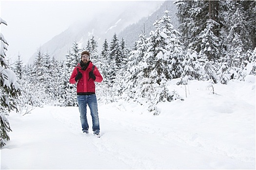
[[133,102],[99,105],[100,138],[82,134],[78,107],[13,112],[1,169],[255,169],[255,80],[214,85],[216,94],[190,81],[187,98],[175,84],[185,100],[159,103],[158,116]]

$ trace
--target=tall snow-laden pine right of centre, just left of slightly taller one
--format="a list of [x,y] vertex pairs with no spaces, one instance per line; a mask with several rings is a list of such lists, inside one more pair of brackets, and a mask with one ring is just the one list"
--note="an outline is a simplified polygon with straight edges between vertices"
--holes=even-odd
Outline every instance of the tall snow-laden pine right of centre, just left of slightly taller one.
[[[157,19],[154,23],[156,31],[151,31],[148,38],[148,49],[144,57],[145,64],[143,64],[143,73],[138,74],[139,76],[142,76],[142,79],[138,82],[138,86],[141,87],[137,90],[138,101],[141,102],[141,98],[144,98],[146,100],[145,102],[149,103],[149,111],[153,112],[154,115],[159,114],[156,104],[158,102],[163,102],[163,100],[168,101],[169,99],[168,92],[162,93],[166,90],[166,88],[164,88],[165,85],[162,84],[166,83],[166,81],[162,80],[172,79],[169,70],[169,65],[171,65],[171,41],[166,34],[169,33],[167,27],[164,27],[163,31],[161,31],[161,24],[163,21],[164,19]],[[161,96],[161,94],[166,95]],[[163,97],[165,99],[163,99]]]

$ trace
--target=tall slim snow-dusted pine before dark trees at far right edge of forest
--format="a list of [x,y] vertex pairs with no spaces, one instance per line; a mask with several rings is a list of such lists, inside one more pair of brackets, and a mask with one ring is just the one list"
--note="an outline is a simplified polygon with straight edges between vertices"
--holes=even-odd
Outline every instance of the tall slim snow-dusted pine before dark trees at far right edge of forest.
[[243,5],[239,1],[231,1],[228,3],[230,12],[227,17],[228,35],[226,38],[227,44],[227,63],[232,69],[234,79],[243,80],[246,76],[243,72],[245,63],[248,62],[246,52],[251,50],[253,45],[251,35],[246,21],[246,12],[243,10]]

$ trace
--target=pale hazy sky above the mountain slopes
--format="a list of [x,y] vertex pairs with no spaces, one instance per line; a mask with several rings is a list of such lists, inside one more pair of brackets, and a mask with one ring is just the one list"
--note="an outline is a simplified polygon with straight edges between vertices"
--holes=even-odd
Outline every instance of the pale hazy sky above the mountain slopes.
[[[118,12],[129,8],[130,3],[129,0],[0,0],[0,17],[7,22],[7,26],[0,25],[0,32],[9,43],[7,57],[16,60],[20,54],[26,63],[41,45],[75,21],[88,20],[99,11]],[[46,26],[51,29],[45,29]]]

